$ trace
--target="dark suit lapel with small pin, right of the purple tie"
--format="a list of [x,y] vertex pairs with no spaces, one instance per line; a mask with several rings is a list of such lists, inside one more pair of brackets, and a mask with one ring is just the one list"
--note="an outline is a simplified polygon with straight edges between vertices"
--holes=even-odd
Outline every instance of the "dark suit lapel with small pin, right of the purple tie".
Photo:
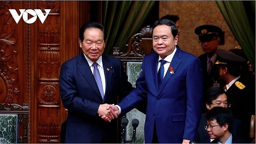
[[105,95],[103,102],[105,101],[107,97],[107,93],[109,92],[110,88],[110,83],[111,83],[111,77],[114,72],[114,67],[113,64],[110,63],[110,60],[106,57],[106,55],[102,55],[102,63],[103,63],[103,70],[105,74],[105,80],[106,80],[106,90],[105,90]]

